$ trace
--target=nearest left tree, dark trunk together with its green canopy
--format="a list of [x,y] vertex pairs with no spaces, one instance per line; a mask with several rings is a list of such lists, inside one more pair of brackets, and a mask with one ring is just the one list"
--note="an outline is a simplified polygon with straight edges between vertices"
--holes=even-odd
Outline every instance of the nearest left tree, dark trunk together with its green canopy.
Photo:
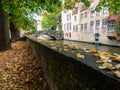
[[[0,4],[1,4],[0,10],[2,11],[0,14],[0,17],[4,16],[4,18],[0,19],[0,26],[1,26],[0,32],[5,33],[3,35],[0,35],[0,44],[4,43],[0,45],[0,51],[1,51],[1,50],[6,50],[11,46],[10,43],[8,43],[10,42],[10,38],[8,34],[9,32],[8,26],[12,25],[12,27],[15,27],[12,29],[19,29],[18,26],[21,26],[22,28],[25,28],[26,30],[28,30],[30,29],[28,25],[34,28],[33,27],[34,24],[31,25],[34,22],[34,20],[30,19],[29,14],[35,13],[39,10],[46,10],[46,11],[52,12],[52,10],[54,9],[54,5],[58,5],[59,7],[59,5],[61,5],[61,1],[60,0],[52,0],[52,1],[51,0],[1,0]],[[10,15],[9,17],[10,19],[7,19],[7,16],[5,15],[4,12],[6,12],[7,15]],[[17,18],[19,15],[21,15],[21,19]],[[11,19],[11,17],[16,18],[16,20]],[[14,20],[17,23],[15,23]],[[20,21],[25,21],[25,22],[20,23]],[[11,22],[12,24],[8,25],[8,22],[9,23]]]

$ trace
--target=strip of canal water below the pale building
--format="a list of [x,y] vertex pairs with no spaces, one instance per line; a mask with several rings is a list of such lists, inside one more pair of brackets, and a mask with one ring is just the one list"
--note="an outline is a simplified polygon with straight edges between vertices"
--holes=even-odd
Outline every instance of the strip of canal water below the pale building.
[[67,41],[67,40],[64,40],[63,42],[70,44],[70,45],[76,45],[79,48],[95,48],[97,51],[105,51],[105,52],[111,53],[111,54],[113,54],[113,53],[120,54],[120,47],[89,44],[89,43]]

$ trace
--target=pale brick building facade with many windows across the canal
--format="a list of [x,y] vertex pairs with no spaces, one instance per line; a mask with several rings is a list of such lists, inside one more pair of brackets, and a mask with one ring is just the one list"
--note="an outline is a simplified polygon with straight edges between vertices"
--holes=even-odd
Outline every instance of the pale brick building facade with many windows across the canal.
[[83,3],[77,3],[76,8],[62,11],[64,39],[118,45],[119,43],[114,39],[114,21],[108,25],[110,16],[108,7],[96,12],[94,10],[99,0],[90,0],[90,3],[89,8]]

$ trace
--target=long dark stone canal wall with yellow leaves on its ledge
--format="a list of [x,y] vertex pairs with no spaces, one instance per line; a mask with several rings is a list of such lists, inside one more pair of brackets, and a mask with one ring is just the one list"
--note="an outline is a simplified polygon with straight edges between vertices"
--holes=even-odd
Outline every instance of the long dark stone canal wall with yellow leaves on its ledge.
[[[96,61],[100,58],[92,53],[71,49],[59,51],[59,45],[63,44],[58,42],[48,44],[31,38],[27,40],[42,63],[52,90],[119,90],[120,79],[113,71],[99,69]],[[53,44],[57,48],[53,48]],[[66,47],[65,44],[63,47]],[[78,52],[85,58],[76,58]]]

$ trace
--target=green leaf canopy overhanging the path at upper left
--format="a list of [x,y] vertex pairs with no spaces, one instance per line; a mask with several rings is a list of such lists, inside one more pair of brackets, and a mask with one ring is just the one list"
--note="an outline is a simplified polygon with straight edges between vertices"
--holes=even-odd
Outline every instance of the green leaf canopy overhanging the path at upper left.
[[1,0],[0,3],[16,28],[32,31],[36,30],[33,13],[59,11],[58,7],[61,7],[60,0]]

